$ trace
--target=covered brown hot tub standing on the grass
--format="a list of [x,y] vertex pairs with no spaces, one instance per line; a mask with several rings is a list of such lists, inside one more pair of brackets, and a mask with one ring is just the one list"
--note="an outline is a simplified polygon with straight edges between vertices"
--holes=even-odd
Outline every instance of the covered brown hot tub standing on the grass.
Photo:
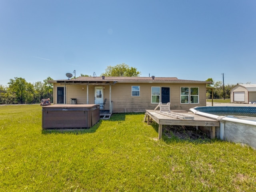
[[100,120],[100,105],[49,105],[42,107],[43,129],[90,128]]

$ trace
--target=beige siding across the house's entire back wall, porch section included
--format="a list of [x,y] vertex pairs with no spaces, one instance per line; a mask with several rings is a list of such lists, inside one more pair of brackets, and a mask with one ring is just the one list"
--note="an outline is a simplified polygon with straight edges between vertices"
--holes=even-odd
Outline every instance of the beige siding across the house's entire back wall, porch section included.
[[[98,85],[95,85],[98,86]],[[88,104],[94,104],[94,85],[89,86]],[[140,96],[132,96],[132,86],[140,86]],[[54,104],[57,103],[57,87],[64,87],[54,83]],[[84,90],[82,90],[84,87]],[[111,85],[111,100],[114,113],[123,112],[145,112],[154,110],[158,104],[151,103],[151,87],[170,88],[171,110],[189,110],[196,106],[206,106],[206,85],[205,84],[181,84],[181,83],[116,83]],[[180,87],[198,87],[198,104],[181,104]],[[87,104],[87,85],[72,84],[66,85],[66,104],[70,104],[70,98],[76,98],[78,103]],[[104,99],[107,99],[105,109],[109,110],[110,85],[104,86]],[[161,96],[160,96],[161,98]]]

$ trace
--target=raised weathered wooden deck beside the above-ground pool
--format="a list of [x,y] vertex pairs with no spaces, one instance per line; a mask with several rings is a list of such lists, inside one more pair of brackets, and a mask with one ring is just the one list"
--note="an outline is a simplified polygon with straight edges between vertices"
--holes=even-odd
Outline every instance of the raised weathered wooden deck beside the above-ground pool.
[[[156,123],[158,123],[158,139],[162,137],[162,125],[184,125],[184,126],[210,126],[211,127],[211,138],[215,138],[215,127],[220,126],[220,122],[218,120],[206,118],[203,116],[199,116],[194,114],[193,112],[180,112],[181,114],[186,114],[190,116],[194,116],[194,119],[188,119],[188,120],[181,120],[172,118],[170,116],[166,116],[163,114],[158,113],[159,111],[154,110],[146,110],[144,121],[150,122],[151,120],[154,120]],[[176,112],[176,111],[174,111]]]

